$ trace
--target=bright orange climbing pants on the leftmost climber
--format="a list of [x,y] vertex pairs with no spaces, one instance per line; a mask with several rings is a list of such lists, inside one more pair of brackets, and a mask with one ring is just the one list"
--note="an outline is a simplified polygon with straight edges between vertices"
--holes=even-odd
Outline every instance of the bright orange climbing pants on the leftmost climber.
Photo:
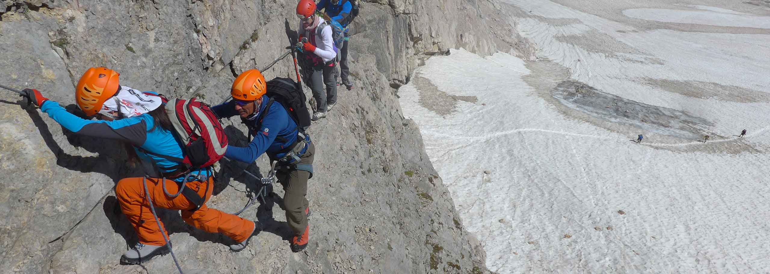
[[[134,226],[136,234],[139,235],[139,242],[152,246],[166,245],[166,241],[163,240],[158,228],[158,223],[152,217],[152,211],[149,209],[142,179],[139,177],[120,180],[115,186],[115,196],[118,198],[123,214],[129,217],[129,222]],[[191,226],[205,232],[222,233],[236,242],[243,242],[251,235],[254,229],[253,222],[233,214],[209,209],[205,204],[200,209],[192,211],[191,209],[195,209],[194,203],[187,200],[184,195],[174,198],[167,196],[163,192],[161,181],[162,179],[147,179],[147,190],[150,198],[152,198],[152,206],[155,206],[156,209],[182,210],[182,220]],[[208,192],[206,192],[206,184],[210,184]],[[212,178],[209,178],[206,182],[187,182],[186,187],[195,190],[205,201],[208,201],[214,190],[214,182]],[[166,179],[166,191],[172,194],[179,192],[179,184]],[[163,226],[162,222],[160,225],[163,227],[163,232],[166,232],[166,227]]]

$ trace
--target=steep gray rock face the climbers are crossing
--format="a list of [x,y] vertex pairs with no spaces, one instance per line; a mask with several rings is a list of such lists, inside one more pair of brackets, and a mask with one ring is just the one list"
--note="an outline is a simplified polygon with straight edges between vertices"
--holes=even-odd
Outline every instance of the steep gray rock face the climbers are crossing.
[[[361,2],[361,1],[360,1]],[[296,40],[294,1],[10,1],[0,13],[0,84],[39,89],[74,105],[85,69],[106,66],[122,85],[216,104],[234,75],[261,68]],[[289,249],[276,186],[268,204],[243,212],[265,229],[243,252],[229,239],[160,210],[186,273],[480,273],[484,252],[462,226],[450,195],[403,119],[395,90],[430,55],[464,47],[510,52],[516,38],[494,2],[364,1],[350,42],[352,91],[310,128],[316,173],[309,183],[311,241]],[[286,58],[266,78],[294,78]],[[309,89],[306,89],[309,93]],[[310,95],[308,96],[311,97]],[[112,188],[141,176],[117,142],[62,129],[18,96],[0,92],[0,272],[176,272],[171,256],[120,266],[136,234]],[[224,120],[230,142],[243,125]],[[239,164],[243,167],[245,164]],[[264,173],[266,159],[248,167]],[[208,205],[236,212],[255,181],[223,161]],[[260,170],[261,169],[261,170]],[[261,172],[260,172],[261,171]],[[249,186],[249,187],[247,187]],[[277,205],[273,207],[273,205]]]

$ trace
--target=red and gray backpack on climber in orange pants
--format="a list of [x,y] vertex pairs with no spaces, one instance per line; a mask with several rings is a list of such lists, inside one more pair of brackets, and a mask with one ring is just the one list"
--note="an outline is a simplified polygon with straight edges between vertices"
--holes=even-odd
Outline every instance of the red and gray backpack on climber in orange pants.
[[179,162],[188,170],[205,168],[222,159],[227,150],[227,135],[209,105],[196,98],[169,100],[158,96],[166,105],[166,114],[182,142],[185,157],[158,156]]

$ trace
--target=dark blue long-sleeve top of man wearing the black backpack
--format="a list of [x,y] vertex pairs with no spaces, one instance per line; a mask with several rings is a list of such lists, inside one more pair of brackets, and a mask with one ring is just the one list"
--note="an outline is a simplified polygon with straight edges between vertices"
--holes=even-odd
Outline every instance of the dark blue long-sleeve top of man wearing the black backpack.
[[[269,98],[262,96],[262,104],[259,105],[259,112],[265,110]],[[238,115],[235,109],[235,102],[230,101],[222,105],[215,105],[211,110],[219,118],[229,118]],[[259,155],[267,153],[270,159],[276,160],[286,155],[286,150],[296,141],[299,129],[296,122],[289,116],[289,112],[283,108],[280,102],[273,102],[270,109],[262,115],[262,124],[259,125],[257,119],[244,120],[249,128],[250,135],[253,136],[249,146],[238,147],[227,145],[225,156],[229,159],[240,162],[254,162]],[[259,125],[259,129],[256,126]],[[310,137],[306,137],[310,142]],[[306,150],[307,147],[303,149]],[[282,153],[283,152],[283,153]]]

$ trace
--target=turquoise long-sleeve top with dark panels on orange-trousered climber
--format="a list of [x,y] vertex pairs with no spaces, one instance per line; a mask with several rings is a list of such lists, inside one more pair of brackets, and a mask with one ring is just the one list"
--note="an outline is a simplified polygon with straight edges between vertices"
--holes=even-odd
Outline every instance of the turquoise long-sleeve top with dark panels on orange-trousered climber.
[[[67,112],[52,100],[44,102],[40,110],[75,134],[129,142],[139,159],[154,163],[160,172],[175,172],[180,165],[179,162],[172,162],[159,155],[184,158],[182,143],[172,132],[156,127],[155,119],[149,113],[113,121],[86,120]],[[199,172],[211,175],[207,168],[194,170],[190,174],[197,175]],[[175,181],[182,182],[182,178]]]

